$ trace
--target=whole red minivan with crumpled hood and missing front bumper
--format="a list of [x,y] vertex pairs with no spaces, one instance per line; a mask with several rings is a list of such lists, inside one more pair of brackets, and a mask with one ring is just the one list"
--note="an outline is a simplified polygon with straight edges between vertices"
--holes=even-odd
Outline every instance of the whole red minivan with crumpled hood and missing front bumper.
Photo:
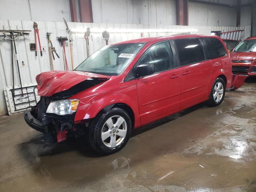
[[200,102],[218,106],[246,77],[232,74],[218,36],[129,40],[101,48],[74,71],[36,76],[41,98],[24,118],[45,138],[86,136],[96,151],[111,154],[134,128]]

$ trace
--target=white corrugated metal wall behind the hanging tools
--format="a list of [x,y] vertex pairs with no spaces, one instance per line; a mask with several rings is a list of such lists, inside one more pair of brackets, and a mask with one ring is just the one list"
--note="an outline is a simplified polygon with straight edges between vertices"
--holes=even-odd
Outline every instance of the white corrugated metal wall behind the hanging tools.
[[[32,21],[21,20],[0,20],[0,29],[2,26],[5,29],[22,29],[32,30],[29,35],[21,36],[16,40],[18,60],[20,66],[20,73],[22,84],[35,82],[35,77],[41,72],[50,70],[50,60],[48,54],[48,43],[46,32],[51,32],[51,40],[53,46],[56,48],[60,58],[57,57],[54,60],[54,70],[64,70],[62,46],[56,40],[57,36],[68,36],[66,33],[66,26],[64,22],[37,22],[41,46],[44,48],[43,56],[35,56],[34,51],[30,51],[29,44],[34,42],[34,29]],[[112,28],[112,29],[156,29],[156,25],[137,25],[137,24],[96,24],[96,23],[74,23],[68,22],[69,28]],[[214,26],[174,26],[174,25],[158,25],[158,29],[197,29],[197,34],[210,34],[213,30],[230,31],[237,30],[238,27],[214,27]],[[242,26],[240,29],[244,30],[242,39],[250,36],[250,26]],[[148,36],[167,36],[172,33],[144,33],[143,37]],[[86,59],[86,43],[83,33],[72,33],[73,38],[73,51],[74,51],[74,67],[78,66],[84,59]],[[110,33],[109,44],[114,42],[120,42],[129,39],[141,38],[140,32],[115,32]],[[102,38],[101,33],[92,32],[90,34],[90,54],[105,46],[105,40]],[[69,43],[66,42],[66,56],[68,65],[70,67],[70,48]],[[10,52],[10,40],[4,38],[0,34],[0,116],[7,113],[3,88],[12,85],[12,68],[11,68],[11,52]],[[24,64],[22,64],[22,62]],[[18,85],[18,73],[16,64],[15,66],[15,84]]]

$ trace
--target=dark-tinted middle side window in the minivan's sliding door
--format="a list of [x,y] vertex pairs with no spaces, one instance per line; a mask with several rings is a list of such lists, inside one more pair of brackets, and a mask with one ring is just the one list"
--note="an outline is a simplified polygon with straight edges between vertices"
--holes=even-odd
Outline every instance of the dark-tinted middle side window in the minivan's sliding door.
[[199,39],[179,39],[174,42],[178,49],[181,66],[205,60]]

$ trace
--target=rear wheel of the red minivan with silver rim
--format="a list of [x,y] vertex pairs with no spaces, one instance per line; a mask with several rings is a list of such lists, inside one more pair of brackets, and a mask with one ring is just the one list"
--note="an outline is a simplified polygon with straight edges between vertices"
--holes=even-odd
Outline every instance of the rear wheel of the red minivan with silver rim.
[[212,90],[210,92],[209,100],[207,104],[209,106],[218,106],[222,103],[226,91],[226,85],[222,78],[216,78],[212,85]]

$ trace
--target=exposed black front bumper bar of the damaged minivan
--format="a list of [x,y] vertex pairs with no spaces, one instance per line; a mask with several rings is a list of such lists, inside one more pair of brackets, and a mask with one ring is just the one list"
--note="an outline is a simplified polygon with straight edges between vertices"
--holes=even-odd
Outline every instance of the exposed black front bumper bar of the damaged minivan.
[[37,130],[42,133],[51,133],[53,130],[50,128],[50,125],[44,125],[42,122],[34,118],[31,114],[31,110],[24,111],[24,120],[25,122],[34,130]]

